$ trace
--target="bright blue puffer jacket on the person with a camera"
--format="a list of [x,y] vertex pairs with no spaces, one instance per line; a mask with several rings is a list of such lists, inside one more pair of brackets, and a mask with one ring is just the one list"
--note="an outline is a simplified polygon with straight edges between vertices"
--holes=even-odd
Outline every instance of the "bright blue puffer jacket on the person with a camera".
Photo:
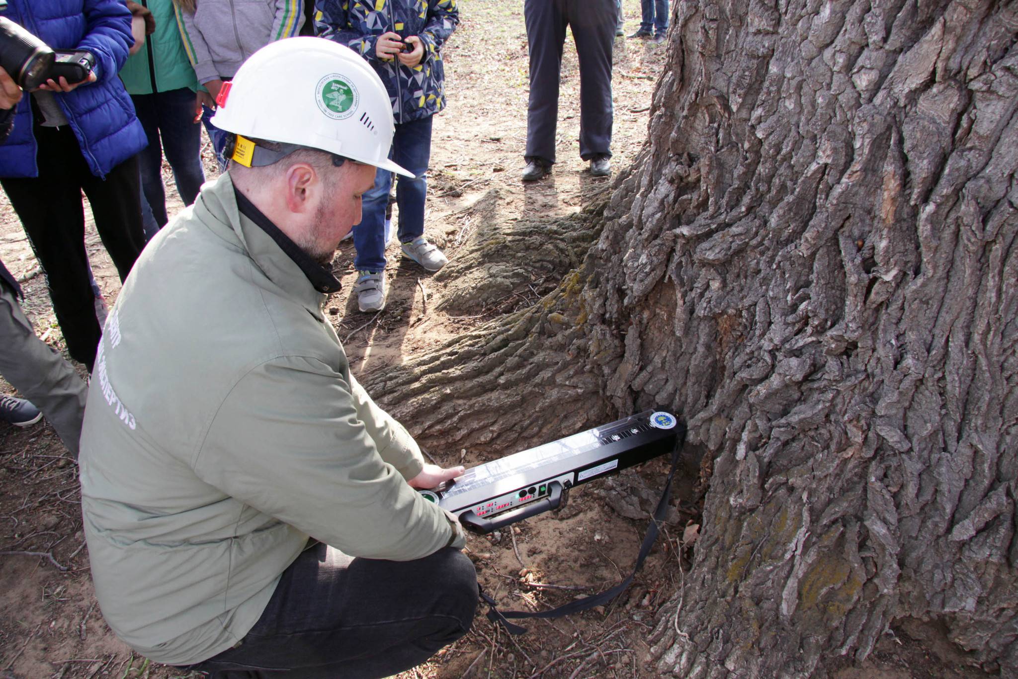
[[[117,72],[134,44],[130,12],[119,0],[8,0],[4,16],[53,49],[88,50],[99,79],[56,95],[60,108],[98,177],[142,151],[148,140]],[[0,177],[37,177],[31,96],[17,105],[14,130],[0,146]]]

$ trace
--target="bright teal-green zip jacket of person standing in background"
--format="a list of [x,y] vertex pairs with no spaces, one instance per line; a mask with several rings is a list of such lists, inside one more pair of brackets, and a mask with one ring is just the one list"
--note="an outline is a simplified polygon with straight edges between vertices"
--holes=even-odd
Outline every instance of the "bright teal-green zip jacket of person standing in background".
[[[137,0],[156,19],[156,32],[148,36],[137,54],[127,57],[120,69],[120,79],[129,95],[151,95],[189,88],[197,90],[197,78],[191,68],[173,0]],[[150,68],[152,64],[155,68]]]

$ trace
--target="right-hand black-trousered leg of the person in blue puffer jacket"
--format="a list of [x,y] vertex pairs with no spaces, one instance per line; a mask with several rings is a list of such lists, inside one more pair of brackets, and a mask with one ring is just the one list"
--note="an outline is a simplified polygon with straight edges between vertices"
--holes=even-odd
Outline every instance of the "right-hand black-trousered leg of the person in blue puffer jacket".
[[92,206],[99,237],[123,282],[145,247],[137,157],[114,167],[106,179],[90,174],[81,182],[81,188]]

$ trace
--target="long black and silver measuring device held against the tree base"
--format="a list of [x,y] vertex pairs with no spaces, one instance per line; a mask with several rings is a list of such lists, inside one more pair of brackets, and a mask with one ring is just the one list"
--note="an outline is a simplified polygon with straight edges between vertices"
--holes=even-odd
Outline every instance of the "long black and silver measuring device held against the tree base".
[[675,415],[646,410],[479,464],[420,494],[488,533],[557,509],[575,486],[671,452],[684,431]]

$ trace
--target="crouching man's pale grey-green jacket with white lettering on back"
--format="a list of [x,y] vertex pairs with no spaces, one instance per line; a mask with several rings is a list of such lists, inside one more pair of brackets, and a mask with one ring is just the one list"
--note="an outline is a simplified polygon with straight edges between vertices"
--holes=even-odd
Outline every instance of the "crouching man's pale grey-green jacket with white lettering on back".
[[326,298],[224,174],[110,312],[81,434],[84,534],[103,616],[154,661],[235,644],[308,536],[395,561],[463,546],[406,483],[420,451],[353,379]]

